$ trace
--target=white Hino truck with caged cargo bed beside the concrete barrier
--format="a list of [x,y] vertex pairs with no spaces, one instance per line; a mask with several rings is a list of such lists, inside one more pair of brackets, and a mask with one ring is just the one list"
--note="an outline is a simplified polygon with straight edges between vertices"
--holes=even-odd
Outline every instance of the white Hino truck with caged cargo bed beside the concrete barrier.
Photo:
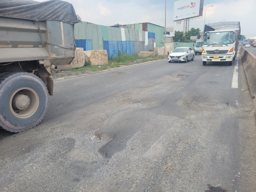
[[[223,30],[224,29],[224,30]],[[241,39],[240,22],[219,22],[204,26],[202,61],[228,62],[235,60]],[[198,35],[199,39],[201,36]]]

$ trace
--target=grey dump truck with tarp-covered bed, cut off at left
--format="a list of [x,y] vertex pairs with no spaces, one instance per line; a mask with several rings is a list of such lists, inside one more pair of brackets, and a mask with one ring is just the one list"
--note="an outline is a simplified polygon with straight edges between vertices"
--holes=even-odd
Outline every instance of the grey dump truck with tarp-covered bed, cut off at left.
[[0,3],[0,128],[38,125],[53,95],[53,73],[75,56],[72,4],[60,0]]

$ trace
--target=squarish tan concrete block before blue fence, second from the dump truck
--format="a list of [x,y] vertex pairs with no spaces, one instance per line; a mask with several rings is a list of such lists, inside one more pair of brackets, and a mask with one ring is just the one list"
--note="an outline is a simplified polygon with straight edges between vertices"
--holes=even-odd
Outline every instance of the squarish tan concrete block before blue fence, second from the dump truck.
[[91,63],[91,66],[104,66],[108,64],[107,50],[89,50],[84,51],[85,61]]

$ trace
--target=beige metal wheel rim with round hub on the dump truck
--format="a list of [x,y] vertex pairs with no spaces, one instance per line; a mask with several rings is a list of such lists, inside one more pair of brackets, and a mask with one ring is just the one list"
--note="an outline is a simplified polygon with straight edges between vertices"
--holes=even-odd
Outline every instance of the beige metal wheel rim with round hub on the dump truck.
[[[18,100],[17,98],[21,99]],[[25,105],[26,107],[24,107]],[[32,116],[39,107],[39,96],[37,91],[31,87],[18,88],[11,95],[9,107],[11,113],[20,119]]]

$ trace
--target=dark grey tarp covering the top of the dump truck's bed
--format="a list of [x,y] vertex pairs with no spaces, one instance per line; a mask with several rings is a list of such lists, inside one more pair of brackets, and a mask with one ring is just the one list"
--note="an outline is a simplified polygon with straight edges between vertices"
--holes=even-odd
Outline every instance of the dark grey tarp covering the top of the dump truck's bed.
[[60,0],[0,0],[0,16],[34,21],[56,20],[69,24],[81,22],[73,5]]

